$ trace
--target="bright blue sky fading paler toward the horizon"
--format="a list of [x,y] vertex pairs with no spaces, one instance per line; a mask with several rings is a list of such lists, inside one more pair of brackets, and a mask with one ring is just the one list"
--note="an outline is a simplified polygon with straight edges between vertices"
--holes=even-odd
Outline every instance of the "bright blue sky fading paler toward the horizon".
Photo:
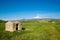
[[0,0],[0,19],[60,19],[60,0]]

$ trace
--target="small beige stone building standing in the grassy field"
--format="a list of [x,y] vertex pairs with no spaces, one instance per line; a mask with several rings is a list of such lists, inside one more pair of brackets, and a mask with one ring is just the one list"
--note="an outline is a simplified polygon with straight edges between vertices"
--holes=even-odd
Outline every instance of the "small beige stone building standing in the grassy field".
[[21,30],[22,29],[22,25],[19,21],[8,21],[6,22],[6,26],[5,26],[5,30],[6,31],[16,31],[16,30]]

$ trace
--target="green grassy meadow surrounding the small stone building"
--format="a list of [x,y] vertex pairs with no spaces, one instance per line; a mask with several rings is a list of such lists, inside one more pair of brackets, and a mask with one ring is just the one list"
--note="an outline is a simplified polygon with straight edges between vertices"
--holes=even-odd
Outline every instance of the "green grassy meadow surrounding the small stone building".
[[60,40],[60,20],[21,23],[25,30],[7,32],[5,22],[0,22],[0,40]]

